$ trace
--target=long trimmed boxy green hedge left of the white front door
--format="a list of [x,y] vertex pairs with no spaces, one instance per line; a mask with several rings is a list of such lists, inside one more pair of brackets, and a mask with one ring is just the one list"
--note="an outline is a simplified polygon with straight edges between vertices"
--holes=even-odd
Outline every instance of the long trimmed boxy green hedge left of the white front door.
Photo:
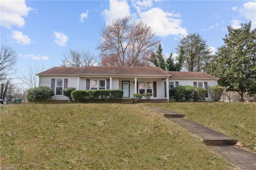
[[75,90],[71,92],[73,101],[96,102],[101,101],[121,101],[124,91],[122,90]]

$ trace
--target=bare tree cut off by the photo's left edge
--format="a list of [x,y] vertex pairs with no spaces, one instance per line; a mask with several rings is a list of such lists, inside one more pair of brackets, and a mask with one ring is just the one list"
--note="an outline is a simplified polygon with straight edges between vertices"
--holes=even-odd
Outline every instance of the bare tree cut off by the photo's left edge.
[[12,47],[0,46],[0,80],[3,80],[7,75],[13,74],[16,71],[14,66],[17,61],[17,54]]

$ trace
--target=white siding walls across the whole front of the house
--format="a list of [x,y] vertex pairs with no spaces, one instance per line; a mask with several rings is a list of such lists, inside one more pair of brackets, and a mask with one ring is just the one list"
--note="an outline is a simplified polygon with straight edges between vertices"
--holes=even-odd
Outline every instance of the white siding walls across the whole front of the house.
[[[68,87],[78,88],[78,76],[40,76],[40,84],[39,86],[47,86],[51,87],[51,79],[68,79]],[[80,77],[80,89],[86,89],[86,79],[110,79],[110,77]],[[130,99],[133,98],[133,94],[135,93],[135,85],[134,85],[134,77],[112,77],[112,88],[111,89],[121,89],[122,90],[122,82],[129,81],[130,82]],[[151,99],[166,99],[165,95],[165,85],[166,79],[162,78],[140,78],[137,77],[137,81],[139,82],[152,82],[152,93],[154,94],[154,81],[156,82],[156,97],[154,95]],[[204,86],[204,82],[207,82],[208,86],[217,85],[216,79],[173,79],[169,78],[169,82],[178,82],[179,85],[191,85],[194,86],[194,82],[202,82]],[[135,82],[136,83],[136,82]],[[175,83],[174,83],[175,85]],[[54,89],[54,93],[56,88]],[[137,91],[139,93],[139,91]],[[68,97],[61,95],[54,95],[52,97],[53,100],[68,100]],[[208,97],[206,97],[206,101],[212,101],[210,94],[208,93]]]

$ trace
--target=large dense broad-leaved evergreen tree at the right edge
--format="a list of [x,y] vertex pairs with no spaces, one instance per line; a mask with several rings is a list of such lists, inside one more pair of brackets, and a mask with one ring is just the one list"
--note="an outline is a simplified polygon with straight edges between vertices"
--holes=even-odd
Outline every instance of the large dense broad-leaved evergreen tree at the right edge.
[[239,29],[228,26],[225,44],[218,48],[208,69],[220,78],[219,85],[239,93],[240,102],[246,92],[256,95],[256,28],[250,30],[251,22],[241,24]]

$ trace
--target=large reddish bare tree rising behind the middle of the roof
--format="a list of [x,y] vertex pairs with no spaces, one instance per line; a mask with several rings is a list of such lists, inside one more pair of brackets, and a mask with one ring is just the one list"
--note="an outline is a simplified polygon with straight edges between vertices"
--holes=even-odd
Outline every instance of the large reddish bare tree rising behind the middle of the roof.
[[96,49],[100,50],[101,65],[106,66],[148,66],[160,43],[149,26],[131,21],[130,16],[108,22],[100,36]]

